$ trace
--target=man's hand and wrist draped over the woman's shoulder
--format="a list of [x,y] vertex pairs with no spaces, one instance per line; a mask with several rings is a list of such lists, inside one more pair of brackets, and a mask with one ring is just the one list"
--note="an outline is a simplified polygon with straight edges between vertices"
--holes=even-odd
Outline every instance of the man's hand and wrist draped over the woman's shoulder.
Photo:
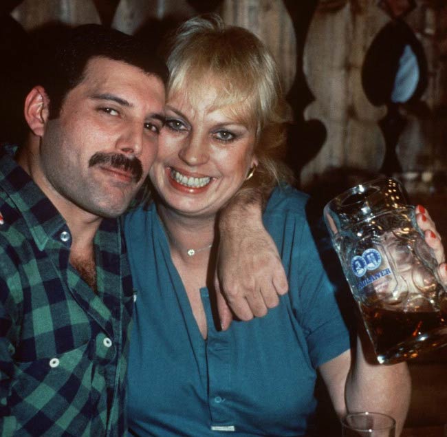
[[250,320],[265,315],[287,292],[281,258],[262,222],[265,196],[260,189],[245,189],[219,216],[215,288],[223,329],[232,318],[228,307],[239,319]]

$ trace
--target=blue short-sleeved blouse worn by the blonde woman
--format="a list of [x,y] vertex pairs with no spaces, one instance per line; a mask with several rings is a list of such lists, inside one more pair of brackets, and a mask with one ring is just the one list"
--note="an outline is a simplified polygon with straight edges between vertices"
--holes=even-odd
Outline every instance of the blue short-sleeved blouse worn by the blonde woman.
[[155,206],[125,219],[134,287],[129,432],[135,436],[302,436],[316,368],[349,349],[335,289],[306,221],[307,196],[276,189],[263,215],[290,292],[268,315],[221,332],[207,288],[199,332]]

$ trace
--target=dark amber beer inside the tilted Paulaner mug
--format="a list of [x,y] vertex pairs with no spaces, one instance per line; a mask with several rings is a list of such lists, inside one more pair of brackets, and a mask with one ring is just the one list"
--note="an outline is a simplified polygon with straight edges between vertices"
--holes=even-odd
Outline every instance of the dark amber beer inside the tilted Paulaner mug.
[[380,363],[415,358],[424,350],[447,343],[447,313],[406,312],[360,305]]

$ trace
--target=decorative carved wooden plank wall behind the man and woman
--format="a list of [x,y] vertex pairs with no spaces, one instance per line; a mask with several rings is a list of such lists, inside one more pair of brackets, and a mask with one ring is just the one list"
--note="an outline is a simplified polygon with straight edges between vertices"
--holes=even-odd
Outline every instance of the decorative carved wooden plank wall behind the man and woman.
[[[410,174],[409,178],[421,178],[424,173],[428,181],[433,172],[447,174],[445,2],[420,0],[413,7],[410,0],[6,3],[12,17],[27,31],[60,21],[69,25],[102,22],[124,32],[138,33],[145,26],[163,30],[163,23],[168,27],[195,14],[213,11],[219,12],[228,23],[249,28],[270,47],[281,67],[294,120],[290,163],[305,189],[320,182],[320,175],[331,167],[360,169],[367,174],[383,170],[387,139],[380,120],[388,109],[386,105],[370,103],[362,87],[362,67],[375,36],[396,20],[392,7],[400,7],[402,10],[393,10],[397,20],[408,24],[424,47],[428,84],[416,107],[398,107],[404,127],[395,144],[389,147],[397,153],[397,165],[389,166],[385,173],[415,171],[417,174]],[[380,70],[382,65],[377,68]]]

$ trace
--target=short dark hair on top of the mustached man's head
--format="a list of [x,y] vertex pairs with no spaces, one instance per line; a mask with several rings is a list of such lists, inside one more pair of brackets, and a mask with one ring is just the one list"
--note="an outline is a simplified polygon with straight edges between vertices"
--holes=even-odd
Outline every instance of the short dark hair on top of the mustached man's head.
[[166,84],[168,70],[155,55],[154,47],[135,36],[98,24],[73,28],[61,37],[56,50],[48,52],[39,82],[50,98],[50,118],[57,118],[67,93],[83,81],[91,58],[105,57],[139,67]]

